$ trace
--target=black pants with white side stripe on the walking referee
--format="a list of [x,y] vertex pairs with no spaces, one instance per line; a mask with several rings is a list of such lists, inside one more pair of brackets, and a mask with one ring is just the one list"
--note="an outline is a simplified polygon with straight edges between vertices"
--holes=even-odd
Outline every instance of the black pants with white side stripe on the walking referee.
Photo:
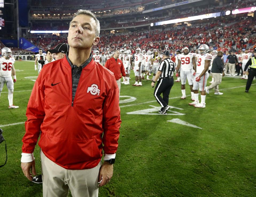
[[[162,78],[159,79],[159,81],[157,81],[154,96],[156,97],[156,101],[161,105],[161,107],[166,107],[166,105],[168,105],[169,94],[173,86],[173,83],[173,78]],[[160,94],[162,93],[163,98],[160,96]]]

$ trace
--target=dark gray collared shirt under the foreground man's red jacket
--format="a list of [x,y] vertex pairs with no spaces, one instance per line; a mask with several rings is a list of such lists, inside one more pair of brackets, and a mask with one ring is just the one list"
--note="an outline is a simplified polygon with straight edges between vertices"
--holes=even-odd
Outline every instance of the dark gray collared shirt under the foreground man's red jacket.
[[66,58],[68,60],[69,65],[72,68],[72,102],[74,101],[75,95],[76,95],[76,90],[78,86],[78,82],[82,73],[82,69],[87,66],[90,61],[92,60],[92,54],[90,54],[90,57],[84,62],[82,66],[77,66],[72,64],[72,62],[68,58],[68,52],[66,53]]

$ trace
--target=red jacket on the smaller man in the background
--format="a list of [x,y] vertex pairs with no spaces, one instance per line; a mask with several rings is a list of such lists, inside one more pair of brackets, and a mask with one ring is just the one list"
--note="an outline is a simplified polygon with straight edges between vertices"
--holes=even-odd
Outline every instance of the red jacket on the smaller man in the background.
[[[116,80],[119,80],[122,76],[126,77],[123,62],[119,58],[116,60],[111,57],[106,61],[105,67],[114,73]],[[120,73],[122,73],[122,76]]]

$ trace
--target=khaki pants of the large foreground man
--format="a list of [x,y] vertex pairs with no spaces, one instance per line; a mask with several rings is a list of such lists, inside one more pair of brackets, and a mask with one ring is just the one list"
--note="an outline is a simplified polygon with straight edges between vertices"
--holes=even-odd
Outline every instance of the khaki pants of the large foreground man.
[[86,170],[67,170],[48,159],[41,151],[43,197],[98,197],[101,162]]

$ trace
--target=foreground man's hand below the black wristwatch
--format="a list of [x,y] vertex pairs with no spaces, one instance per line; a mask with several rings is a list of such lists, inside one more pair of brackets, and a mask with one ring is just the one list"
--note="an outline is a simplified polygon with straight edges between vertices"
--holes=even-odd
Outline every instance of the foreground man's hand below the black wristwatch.
[[112,178],[112,176],[113,176],[113,164],[110,164],[107,161],[104,161],[104,163],[100,167],[100,172],[99,172],[98,182],[100,182],[102,179],[101,183],[99,184],[99,187],[102,187],[105,184],[107,184]]

